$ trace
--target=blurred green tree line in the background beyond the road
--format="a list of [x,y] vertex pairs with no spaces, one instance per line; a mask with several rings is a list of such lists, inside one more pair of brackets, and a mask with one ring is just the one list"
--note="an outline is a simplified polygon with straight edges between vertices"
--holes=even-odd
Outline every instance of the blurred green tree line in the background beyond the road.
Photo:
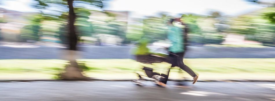
[[[64,1],[60,0],[58,3],[62,4]],[[45,8],[42,5],[39,5],[41,7],[38,8]],[[138,24],[127,25],[117,21],[116,14],[110,12],[97,11],[108,16],[108,19],[101,21],[103,23],[89,21],[89,16],[93,16],[89,9],[75,7],[74,12],[76,15],[75,31],[80,42],[82,41],[81,37],[93,38],[96,34],[118,36],[123,40],[123,44],[138,41],[145,35],[151,36],[153,42],[165,40],[166,22],[171,18],[171,16],[160,13],[158,17],[150,16],[137,19],[135,22]],[[62,12],[61,15],[44,14],[43,12],[37,14],[30,18],[29,25],[21,30],[22,40],[25,42],[28,40],[43,41],[40,40],[41,37],[48,36],[58,39],[54,42],[68,43],[68,15],[68,10]],[[226,34],[240,34],[245,35],[246,40],[272,45],[275,42],[274,15],[274,7],[267,7],[238,17],[225,16],[218,11],[210,11],[209,16],[183,14],[181,20],[189,29],[190,44],[220,44],[224,41]]]

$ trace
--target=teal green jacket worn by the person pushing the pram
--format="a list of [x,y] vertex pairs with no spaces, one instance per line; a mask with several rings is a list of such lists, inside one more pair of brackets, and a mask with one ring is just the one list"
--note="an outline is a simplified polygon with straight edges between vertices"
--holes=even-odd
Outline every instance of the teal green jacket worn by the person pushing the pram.
[[183,47],[183,31],[181,28],[176,26],[169,26],[168,29],[168,40],[172,43],[172,46],[169,47],[169,51],[172,53],[182,53],[184,52]]

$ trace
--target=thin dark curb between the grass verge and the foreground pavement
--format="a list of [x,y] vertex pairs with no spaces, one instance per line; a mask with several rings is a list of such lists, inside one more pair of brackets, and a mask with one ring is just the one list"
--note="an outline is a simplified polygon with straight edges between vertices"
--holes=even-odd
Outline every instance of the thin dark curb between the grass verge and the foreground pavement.
[[[85,80],[41,80],[41,79],[33,79],[33,80],[0,80],[0,82],[31,82],[31,81],[132,81],[133,79],[99,79],[99,78],[90,78]],[[150,80],[147,80],[150,81]],[[169,81],[192,81],[192,80],[175,80],[169,79]],[[198,82],[275,82],[275,80],[242,80],[242,79],[232,79],[232,80],[198,80]]]

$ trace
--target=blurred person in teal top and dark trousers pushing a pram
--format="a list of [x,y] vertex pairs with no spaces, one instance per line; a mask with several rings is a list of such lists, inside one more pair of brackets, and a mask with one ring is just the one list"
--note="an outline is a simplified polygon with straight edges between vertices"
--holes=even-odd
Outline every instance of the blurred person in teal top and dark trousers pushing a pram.
[[[184,70],[185,72],[187,72],[189,75],[191,75],[193,77],[193,84],[195,84],[198,81],[198,75],[195,74],[195,72],[193,70],[191,70],[188,66],[186,66],[183,63],[183,56],[184,56],[184,51],[186,49],[184,49],[186,46],[184,44],[184,35],[182,35],[182,33],[184,33],[182,31],[181,28],[176,27],[173,25],[174,21],[180,21],[179,18],[178,19],[170,19],[170,21],[168,21],[168,40],[171,41],[172,46],[169,47],[169,52],[170,55],[169,57],[171,58],[170,63],[172,64],[171,67],[175,67],[178,66],[180,67],[180,69]],[[166,80],[163,83],[167,83],[168,80],[168,76],[164,76],[166,78]]]

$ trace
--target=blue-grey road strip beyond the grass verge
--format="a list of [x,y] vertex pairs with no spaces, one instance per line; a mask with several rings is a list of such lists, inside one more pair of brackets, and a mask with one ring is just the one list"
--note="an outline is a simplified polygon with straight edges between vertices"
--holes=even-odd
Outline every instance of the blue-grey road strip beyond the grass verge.
[[[56,46],[0,46],[0,59],[62,59]],[[78,46],[81,59],[133,59],[133,46]],[[275,48],[188,47],[185,58],[275,58]]]

